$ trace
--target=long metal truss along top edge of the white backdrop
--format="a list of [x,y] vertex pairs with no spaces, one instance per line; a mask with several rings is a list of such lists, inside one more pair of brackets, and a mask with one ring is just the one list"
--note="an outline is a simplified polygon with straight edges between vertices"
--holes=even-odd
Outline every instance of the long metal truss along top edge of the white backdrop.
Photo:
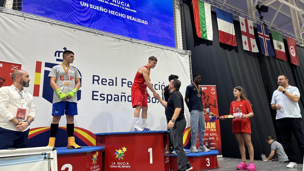
[[19,17],[22,17],[24,19],[32,19],[32,20],[36,20],[36,21],[40,21],[40,22],[44,22],[44,23],[49,23],[50,25],[63,26],[63,27],[74,29],[75,31],[76,30],[81,30],[81,31],[85,31],[85,32],[88,32],[88,33],[95,34],[96,36],[101,35],[101,36],[111,37],[111,38],[118,39],[118,40],[125,40],[125,41],[131,42],[131,43],[143,44],[143,45],[146,45],[148,47],[157,47],[157,48],[160,48],[160,49],[163,49],[163,50],[174,51],[174,52],[177,52],[179,54],[191,55],[191,51],[185,51],[185,50],[182,50],[182,49],[176,49],[176,48],[172,48],[172,47],[162,46],[162,45],[159,45],[159,44],[154,44],[154,43],[146,42],[146,41],[143,41],[143,40],[137,40],[137,39],[133,39],[133,38],[129,38],[129,37],[124,37],[124,36],[104,32],[104,31],[100,31],[100,30],[96,30],[96,29],[92,29],[92,28],[88,28],[88,27],[84,27],[84,26],[78,26],[78,25],[74,25],[74,24],[71,24],[71,23],[65,23],[65,22],[62,22],[62,21],[58,21],[58,20],[54,20],[54,19],[48,19],[48,18],[45,18],[45,17],[36,16],[36,15],[33,15],[33,14],[20,12],[20,11],[16,11],[16,10],[12,10],[12,9],[7,9],[7,8],[3,8],[3,7],[0,7],[0,14],[1,13],[10,14],[10,15],[14,15],[14,16],[19,16]]

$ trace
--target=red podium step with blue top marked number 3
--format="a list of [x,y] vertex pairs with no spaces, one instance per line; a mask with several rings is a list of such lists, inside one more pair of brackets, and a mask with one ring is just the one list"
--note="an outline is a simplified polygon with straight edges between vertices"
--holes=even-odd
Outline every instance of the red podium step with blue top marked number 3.
[[[219,165],[216,156],[218,154],[219,152],[217,150],[210,150],[210,152],[188,153],[186,155],[193,167],[192,170],[194,171],[218,168]],[[170,154],[170,170],[178,170],[176,154]]]

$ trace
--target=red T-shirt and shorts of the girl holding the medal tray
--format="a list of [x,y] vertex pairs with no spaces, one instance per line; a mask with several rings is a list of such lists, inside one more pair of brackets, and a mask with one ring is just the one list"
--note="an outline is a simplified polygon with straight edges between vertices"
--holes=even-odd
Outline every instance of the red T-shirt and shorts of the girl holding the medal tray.
[[[233,116],[248,114],[250,112],[253,111],[248,100],[232,101],[230,103],[230,114]],[[251,125],[249,118],[232,120],[232,133],[240,132],[251,134]]]

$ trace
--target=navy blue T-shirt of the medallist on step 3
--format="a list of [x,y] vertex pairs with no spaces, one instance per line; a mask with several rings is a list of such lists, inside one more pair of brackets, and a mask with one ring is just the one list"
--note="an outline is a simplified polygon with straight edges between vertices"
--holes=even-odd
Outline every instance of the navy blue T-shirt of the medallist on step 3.
[[[199,88],[199,92],[197,91],[197,88]],[[203,103],[202,103],[202,88],[198,85],[195,85],[192,83],[187,86],[186,88],[186,96],[188,96],[189,101],[189,111],[192,110],[203,110]],[[198,97],[197,94],[200,94],[201,97]]]

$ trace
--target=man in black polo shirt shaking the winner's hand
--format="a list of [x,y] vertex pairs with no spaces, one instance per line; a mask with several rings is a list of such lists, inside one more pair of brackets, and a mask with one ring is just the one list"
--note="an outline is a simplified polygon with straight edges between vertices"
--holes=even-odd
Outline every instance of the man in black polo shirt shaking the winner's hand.
[[181,81],[173,79],[168,86],[171,92],[168,102],[160,98],[158,100],[167,109],[166,117],[167,120],[170,120],[167,128],[171,132],[171,140],[177,152],[178,170],[188,171],[192,169],[192,166],[183,149],[183,132],[186,128],[186,119],[184,115],[183,96],[181,92],[179,92]]

